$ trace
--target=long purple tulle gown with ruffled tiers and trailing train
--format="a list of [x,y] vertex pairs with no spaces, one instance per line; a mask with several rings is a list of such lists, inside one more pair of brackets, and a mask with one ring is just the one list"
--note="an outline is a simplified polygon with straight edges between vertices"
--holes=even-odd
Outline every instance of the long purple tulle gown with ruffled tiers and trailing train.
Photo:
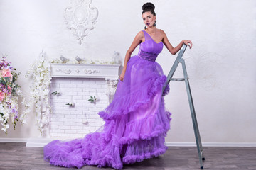
[[55,166],[97,165],[122,169],[123,164],[142,162],[166,152],[164,137],[171,113],[165,111],[162,88],[166,76],[155,62],[163,49],[145,30],[139,54],[129,59],[124,81],[119,81],[114,99],[98,113],[105,125],[82,139],[54,140],[44,147],[44,159]]

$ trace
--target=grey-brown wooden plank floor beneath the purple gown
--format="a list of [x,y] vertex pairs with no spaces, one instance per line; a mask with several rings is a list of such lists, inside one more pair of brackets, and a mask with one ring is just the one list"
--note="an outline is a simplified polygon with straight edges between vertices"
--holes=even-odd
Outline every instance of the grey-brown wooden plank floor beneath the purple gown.
[[[204,169],[256,169],[256,147],[203,147]],[[43,148],[26,147],[26,143],[0,142],[0,169],[10,170],[67,170],[51,166],[43,160]],[[82,169],[98,169],[83,166]],[[185,170],[200,169],[196,147],[169,147],[165,154],[124,165],[125,170]],[[110,170],[110,168],[102,168]],[[113,170],[113,169],[111,169]]]

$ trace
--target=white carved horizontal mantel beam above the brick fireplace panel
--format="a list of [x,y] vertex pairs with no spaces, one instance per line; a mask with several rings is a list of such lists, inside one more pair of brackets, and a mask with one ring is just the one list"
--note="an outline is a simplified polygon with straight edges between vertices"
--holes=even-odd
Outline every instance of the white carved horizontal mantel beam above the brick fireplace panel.
[[50,64],[51,77],[118,79],[119,64]]

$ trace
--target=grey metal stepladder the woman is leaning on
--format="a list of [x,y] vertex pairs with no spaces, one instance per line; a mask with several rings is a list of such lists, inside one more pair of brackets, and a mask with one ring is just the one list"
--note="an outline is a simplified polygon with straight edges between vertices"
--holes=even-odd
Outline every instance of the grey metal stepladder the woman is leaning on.
[[[190,110],[191,110],[191,118],[192,118],[192,122],[193,122],[193,130],[195,132],[195,137],[196,137],[196,147],[198,149],[200,169],[203,169],[203,161],[205,160],[205,157],[203,156],[203,147],[202,147],[201,137],[200,137],[200,133],[199,133],[199,129],[198,129],[198,123],[197,123],[197,120],[196,120],[196,111],[195,111],[195,108],[194,108],[194,105],[193,105],[193,98],[192,98],[192,94],[191,94],[191,89],[190,89],[190,86],[189,86],[188,74],[186,72],[185,60],[183,60],[183,58],[182,58],[182,56],[183,56],[183,54],[186,50],[186,47],[187,47],[186,44],[182,45],[181,50],[178,53],[178,57],[176,57],[176,60],[174,61],[174,64],[171,67],[171,70],[168,74],[167,81],[164,84],[163,93],[164,93],[164,90],[166,89],[166,86],[169,84],[170,81],[185,81],[186,91],[187,91],[187,94],[188,94],[188,103],[189,103],[189,107],[190,107]],[[174,76],[174,72],[176,71],[179,63],[182,64],[184,78],[172,78]]]

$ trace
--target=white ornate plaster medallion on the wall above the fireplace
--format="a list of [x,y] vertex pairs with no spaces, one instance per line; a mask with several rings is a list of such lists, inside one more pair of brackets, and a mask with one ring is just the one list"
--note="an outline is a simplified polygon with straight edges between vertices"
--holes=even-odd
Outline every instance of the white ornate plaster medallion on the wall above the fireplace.
[[78,43],[82,45],[83,38],[92,30],[98,17],[98,10],[92,7],[92,0],[73,0],[73,7],[65,8],[65,23],[73,32]]

